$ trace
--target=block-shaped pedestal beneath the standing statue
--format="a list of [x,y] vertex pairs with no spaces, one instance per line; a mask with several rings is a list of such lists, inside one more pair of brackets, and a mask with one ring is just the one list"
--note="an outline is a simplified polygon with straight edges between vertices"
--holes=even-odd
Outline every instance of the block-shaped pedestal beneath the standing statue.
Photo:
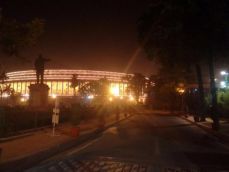
[[33,107],[45,107],[48,105],[49,87],[46,84],[31,84],[29,86],[29,104]]

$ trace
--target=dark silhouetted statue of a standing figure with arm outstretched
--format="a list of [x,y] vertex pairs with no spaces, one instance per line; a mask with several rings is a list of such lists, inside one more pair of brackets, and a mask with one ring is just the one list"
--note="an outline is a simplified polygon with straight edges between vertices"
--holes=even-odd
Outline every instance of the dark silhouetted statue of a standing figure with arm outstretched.
[[[36,75],[37,75],[37,84],[43,84],[44,81],[44,70],[45,70],[45,62],[50,61],[49,59],[46,59],[42,57],[40,54],[38,58],[35,60],[34,66],[36,69]],[[41,82],[39,82],[41,78]]]

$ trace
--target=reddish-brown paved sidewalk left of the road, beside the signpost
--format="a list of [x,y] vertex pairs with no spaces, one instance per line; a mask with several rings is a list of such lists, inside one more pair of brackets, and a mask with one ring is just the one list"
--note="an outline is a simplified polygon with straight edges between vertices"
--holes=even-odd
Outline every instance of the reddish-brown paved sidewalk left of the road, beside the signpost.
[[[120,114],[118,121],[123,120],[124,118],[124,115]],[[115,114],[108,115],[107,118],[105,118],[104,127],[108,127],[118,121]],[[52,134],[52,128],[46,128],[42,131],[33,132],[25,137],[0,143],[0,148],[2,149],[0,165],[36,155],[54,147],[57,148],[61,147],[61,145],[67,145],[70,142],[78,140],[84,135],[98,130],[99,122],[98,119],[93,119],[87,122],[82,122],[79,127],[80,136],[77,138],[71,135],[72,127],[70,124],[62,124],[55,130],[54,136]]]

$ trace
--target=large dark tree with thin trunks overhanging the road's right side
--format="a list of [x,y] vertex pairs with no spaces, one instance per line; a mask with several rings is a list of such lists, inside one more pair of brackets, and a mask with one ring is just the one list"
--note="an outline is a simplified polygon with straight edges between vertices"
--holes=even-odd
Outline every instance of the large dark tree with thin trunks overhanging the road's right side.
[[214,59],[228,54],[228,7],[227,0],[154,0],[138,28],[149,59],[162,65],[196,66],[202,99],[200,64],[208,63],[214,129],[219,126]]

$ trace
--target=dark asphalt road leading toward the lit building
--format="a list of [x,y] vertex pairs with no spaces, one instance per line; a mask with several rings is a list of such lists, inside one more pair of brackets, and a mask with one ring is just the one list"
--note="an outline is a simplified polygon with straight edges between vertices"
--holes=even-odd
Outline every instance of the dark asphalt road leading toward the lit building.
[[229,149],[196,125],[145,113],[28,171],[229,171]]

